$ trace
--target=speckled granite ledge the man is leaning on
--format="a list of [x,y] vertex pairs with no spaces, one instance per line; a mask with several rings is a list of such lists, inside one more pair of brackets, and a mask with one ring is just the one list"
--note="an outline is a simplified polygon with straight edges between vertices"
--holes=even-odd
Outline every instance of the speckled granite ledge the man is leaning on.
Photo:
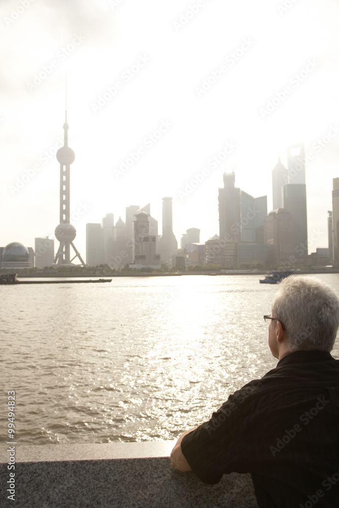
[[[249,474],[217,485],[170,466],[175,441],[15,446],[19,508],[255,508]],[[10,446],[10,445],[8,445]],[[0,449],[0,499],[7,499],[8,446]],[[5,501],[5,502],[3,502]]]

